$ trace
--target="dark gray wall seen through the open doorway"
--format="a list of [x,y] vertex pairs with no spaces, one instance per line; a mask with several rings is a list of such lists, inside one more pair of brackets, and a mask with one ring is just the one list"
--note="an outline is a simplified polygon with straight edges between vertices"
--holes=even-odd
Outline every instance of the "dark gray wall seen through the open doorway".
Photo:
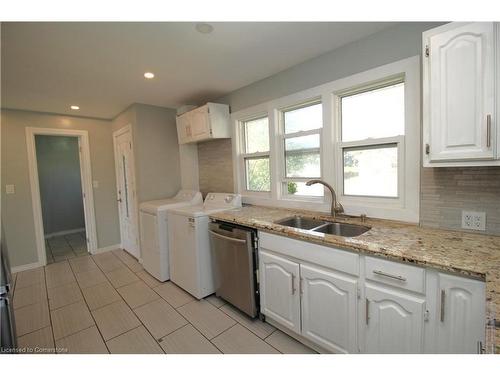
[[45,234],[85,227],[78,138],[36,135]]

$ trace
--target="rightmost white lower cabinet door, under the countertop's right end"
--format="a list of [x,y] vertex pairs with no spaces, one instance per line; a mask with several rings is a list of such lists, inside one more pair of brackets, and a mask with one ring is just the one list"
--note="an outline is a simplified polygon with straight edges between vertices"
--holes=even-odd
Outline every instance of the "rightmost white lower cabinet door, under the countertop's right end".
[[437,351],[478,353],[485,336],[485,284],[439,274]]

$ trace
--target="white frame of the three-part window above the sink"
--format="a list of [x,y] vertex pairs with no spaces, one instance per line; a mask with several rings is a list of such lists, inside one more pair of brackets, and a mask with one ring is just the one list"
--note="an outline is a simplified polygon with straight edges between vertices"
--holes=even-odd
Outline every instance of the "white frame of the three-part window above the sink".
[[[398,198],[346,196],[343,194],[342,147],[361,145],[358,141],[341,142],[339,95],[356,88],[380,85],[394,77],[404,77],[405,83],[405,134],[373,140],[372,144],[398,144]],[[282,194],[284,177],[284,142],[282,139],[281,113],[283,109],[300,106],[321,98],[323,128],[321,130],[321,178],[335,188],[339,201],[349,215],[367,214],[370,217],[402,220],[417,223],[420,203],[420,57],[414,56],[368,71],[354,74],[333,82],[307,89],[283,98],[262,103],[232,114],[233,157],[235,191],[242,194],[243,202],[294,209],[329,212],[330,194],[324,197]],[[319,101],[319,100],[318,100]],[[241,164],[241,122],[263,117],[269,119],[271,192],[245,191],[244,165]],[[363,141],[368,145],[370,141]],[[331,160],[332,162],[328,162]],[[242,168],[243,167],[243,168]],[[292,199],[290,199],[292,198]]]

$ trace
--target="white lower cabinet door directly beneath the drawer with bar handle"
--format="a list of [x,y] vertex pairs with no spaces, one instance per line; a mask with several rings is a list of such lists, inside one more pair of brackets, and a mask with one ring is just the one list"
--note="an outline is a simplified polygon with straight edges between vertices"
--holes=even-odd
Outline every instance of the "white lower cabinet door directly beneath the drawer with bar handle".
[[365,351],[421,353],[425,300],[383,286],[365,293]]

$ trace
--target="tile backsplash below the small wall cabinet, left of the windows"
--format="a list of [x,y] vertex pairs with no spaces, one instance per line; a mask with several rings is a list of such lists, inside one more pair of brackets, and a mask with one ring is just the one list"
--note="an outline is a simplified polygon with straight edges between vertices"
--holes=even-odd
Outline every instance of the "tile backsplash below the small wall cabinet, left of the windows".
[[231,139],[217,139],[198,144],[200,191],[233,193],[233,153]]

